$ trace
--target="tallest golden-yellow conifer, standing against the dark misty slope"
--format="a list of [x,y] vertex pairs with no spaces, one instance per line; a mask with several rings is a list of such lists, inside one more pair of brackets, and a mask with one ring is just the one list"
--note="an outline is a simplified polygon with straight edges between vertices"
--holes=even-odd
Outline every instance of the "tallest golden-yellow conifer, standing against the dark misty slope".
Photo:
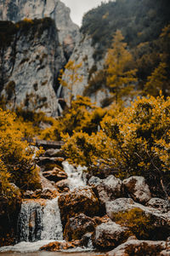
[[116,102],[120,101],[122,96],[130,95],[133,84],[137,81],[136,69],[131,68],[133,56],[126,49],[127,44],[122,42],[123,40],[122,32],[117,30],[105,59],[106,84]]

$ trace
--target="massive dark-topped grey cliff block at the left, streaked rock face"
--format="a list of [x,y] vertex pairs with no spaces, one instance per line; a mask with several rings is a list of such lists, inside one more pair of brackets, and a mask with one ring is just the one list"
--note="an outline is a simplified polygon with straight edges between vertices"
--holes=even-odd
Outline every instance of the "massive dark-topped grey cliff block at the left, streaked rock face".
[[[4,30],[4,31],[3,31]],[[57,115],[54,90],[59,69],[65,63],[54,21],[1,21],[0,85],[8,108],[41,110]]]

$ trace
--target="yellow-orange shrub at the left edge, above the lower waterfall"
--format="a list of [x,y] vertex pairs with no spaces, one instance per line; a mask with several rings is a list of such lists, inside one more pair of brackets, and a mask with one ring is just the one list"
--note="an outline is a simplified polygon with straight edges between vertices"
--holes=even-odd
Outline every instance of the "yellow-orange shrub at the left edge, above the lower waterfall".
[[0,109],[1,194],[7,196],[14,190],[11,183],[20,189],[41,187],[39,170],[32,161],[33,151],[26,141],[21,141],[23,133],[15,118],[14,113]]

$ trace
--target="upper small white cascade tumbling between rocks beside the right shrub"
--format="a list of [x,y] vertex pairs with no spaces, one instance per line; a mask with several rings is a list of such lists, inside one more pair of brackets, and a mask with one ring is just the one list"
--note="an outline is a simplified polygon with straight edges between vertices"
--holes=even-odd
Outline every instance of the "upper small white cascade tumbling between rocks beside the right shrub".
[[86,185],[86,180],[83,175],[83,170],[86,170],[86,167],[78,166],[77,168],[75,168],[74,166],[71,166],[67,161],[64,161],[62,165],[68,176],[68,179],[70,180],[71,190]]

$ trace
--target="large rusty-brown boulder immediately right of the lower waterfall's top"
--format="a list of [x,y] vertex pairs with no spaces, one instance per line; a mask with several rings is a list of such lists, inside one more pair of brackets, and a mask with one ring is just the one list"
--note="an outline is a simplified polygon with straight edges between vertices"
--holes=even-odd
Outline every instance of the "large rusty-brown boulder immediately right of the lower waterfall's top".
[[60,195],[59,209],[61,221],[65,227],[68,219],[76,216],[77,213],[84,213],[89,217],[98,214],[99,201],[94,195],[94,191],[86,186]]

